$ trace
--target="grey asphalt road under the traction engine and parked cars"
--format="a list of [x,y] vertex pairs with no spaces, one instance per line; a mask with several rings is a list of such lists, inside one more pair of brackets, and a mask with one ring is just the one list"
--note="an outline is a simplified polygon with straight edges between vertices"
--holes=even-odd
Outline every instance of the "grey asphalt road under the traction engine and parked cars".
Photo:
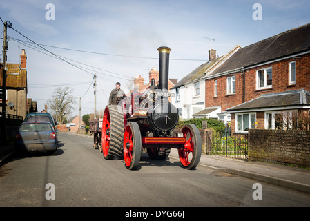
[[[59,133],[58,155],[16,155],[0,168],[0,206],[310,206],[309,195],[244,177],[142,154],[141,168],[105,160],[90,137]],[[48,185],[47,185],[48,184]],[[253,194],[255,192],[255,194]],[[261,199],[253,199],[260,195]]]

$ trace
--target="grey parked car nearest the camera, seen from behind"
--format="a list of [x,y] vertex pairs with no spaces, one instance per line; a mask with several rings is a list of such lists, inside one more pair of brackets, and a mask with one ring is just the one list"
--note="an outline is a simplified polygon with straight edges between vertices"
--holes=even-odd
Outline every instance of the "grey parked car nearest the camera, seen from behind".
[[57,155],[57,135],[50,122],[23,122],[15,137],[17,151]]

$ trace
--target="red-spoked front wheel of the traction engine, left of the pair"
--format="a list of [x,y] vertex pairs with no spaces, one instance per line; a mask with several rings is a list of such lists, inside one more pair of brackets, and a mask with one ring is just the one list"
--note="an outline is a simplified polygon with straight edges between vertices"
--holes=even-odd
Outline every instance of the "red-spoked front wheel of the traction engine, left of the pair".
[[137,122],[129,122],[124,132],[124,160],[127,169],[135,170],[139,166],[142,141]]

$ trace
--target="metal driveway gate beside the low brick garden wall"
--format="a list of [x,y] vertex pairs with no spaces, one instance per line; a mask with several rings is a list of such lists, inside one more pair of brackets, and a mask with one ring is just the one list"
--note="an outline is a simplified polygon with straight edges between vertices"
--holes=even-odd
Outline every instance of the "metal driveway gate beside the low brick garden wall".
[[207,154],[248,160],[247,133],[232,134],[231,129],[225,129],[222,132],[212,130],[207,139],[207,142],[211,144]]

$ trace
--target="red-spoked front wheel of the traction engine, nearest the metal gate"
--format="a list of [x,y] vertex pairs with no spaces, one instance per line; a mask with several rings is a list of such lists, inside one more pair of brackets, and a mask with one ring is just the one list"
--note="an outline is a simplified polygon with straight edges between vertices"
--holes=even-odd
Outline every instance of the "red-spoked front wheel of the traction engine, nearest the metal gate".
[[202,139],[200,132],[194,124],[186,124],[182,129],[186,137],[184,148],[178,150],[180,162],[186,169],[195,169],[202,155]]

